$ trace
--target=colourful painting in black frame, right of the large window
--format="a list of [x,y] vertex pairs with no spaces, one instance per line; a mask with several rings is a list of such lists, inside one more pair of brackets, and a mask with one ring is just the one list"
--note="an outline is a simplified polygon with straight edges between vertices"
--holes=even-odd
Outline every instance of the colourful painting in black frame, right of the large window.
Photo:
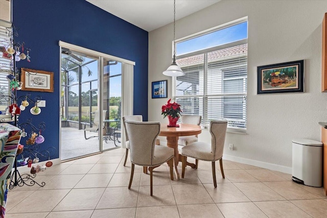
[[258,94],[304,92],[304,60],[258,66]]

